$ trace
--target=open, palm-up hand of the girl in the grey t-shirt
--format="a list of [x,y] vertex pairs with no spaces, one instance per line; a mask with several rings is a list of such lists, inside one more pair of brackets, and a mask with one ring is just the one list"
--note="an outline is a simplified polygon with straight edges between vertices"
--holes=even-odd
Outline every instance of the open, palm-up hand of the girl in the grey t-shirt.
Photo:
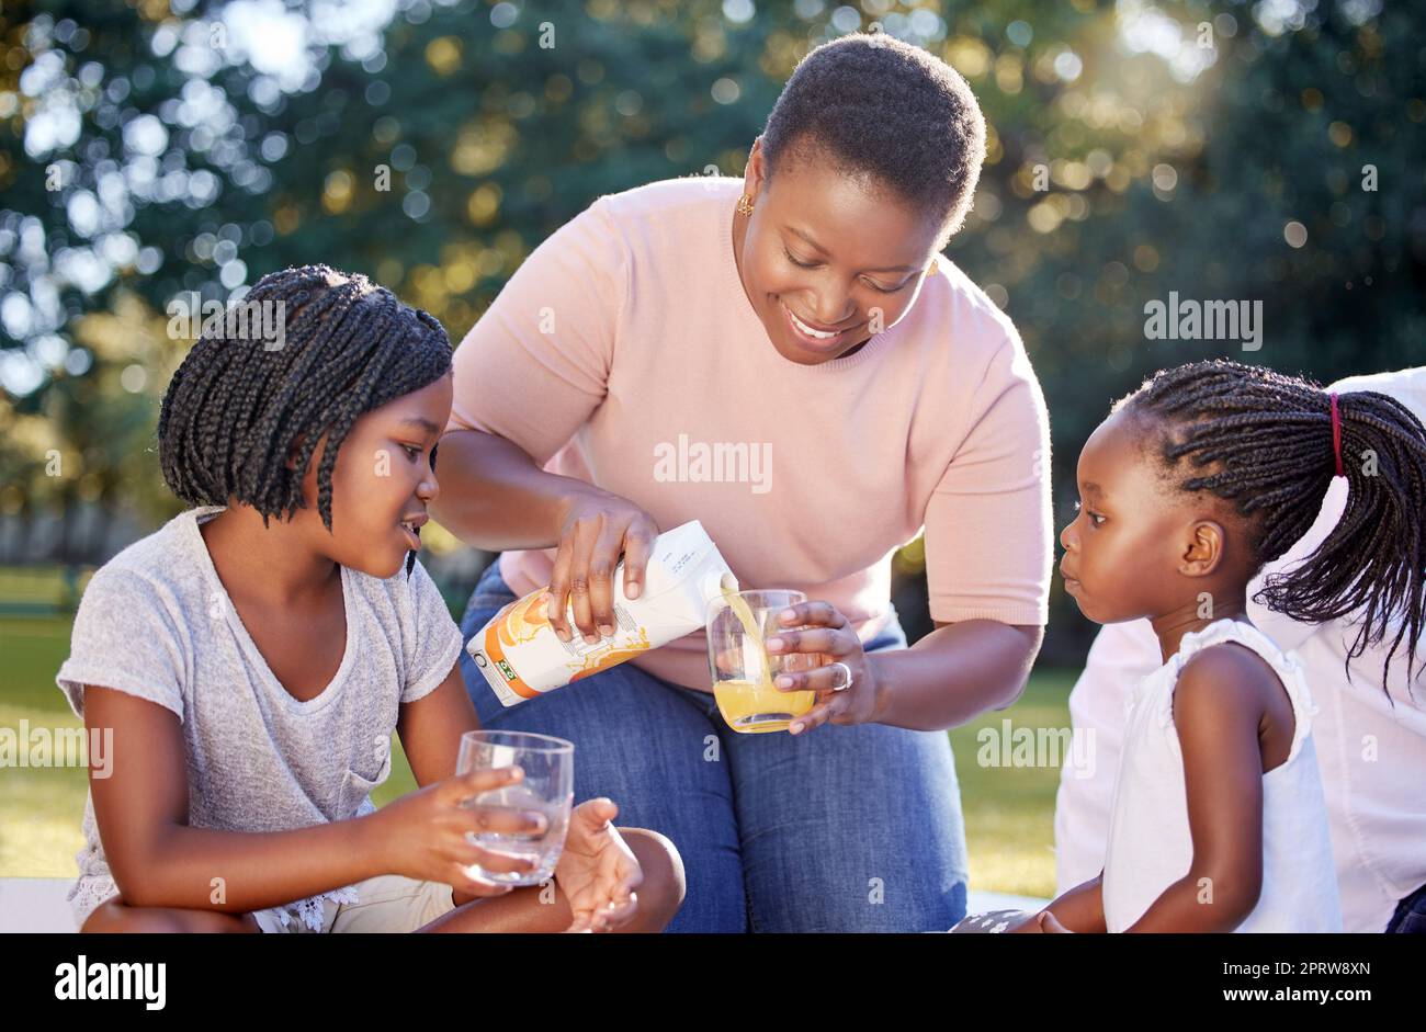
[[575,914],[569,932],[606,932],[627,924],[639,909],[635,892],[643,871],[633,850],[610,822],[619,815],[612,800],[580,803],[569,815],[565,851],[555,881]]

